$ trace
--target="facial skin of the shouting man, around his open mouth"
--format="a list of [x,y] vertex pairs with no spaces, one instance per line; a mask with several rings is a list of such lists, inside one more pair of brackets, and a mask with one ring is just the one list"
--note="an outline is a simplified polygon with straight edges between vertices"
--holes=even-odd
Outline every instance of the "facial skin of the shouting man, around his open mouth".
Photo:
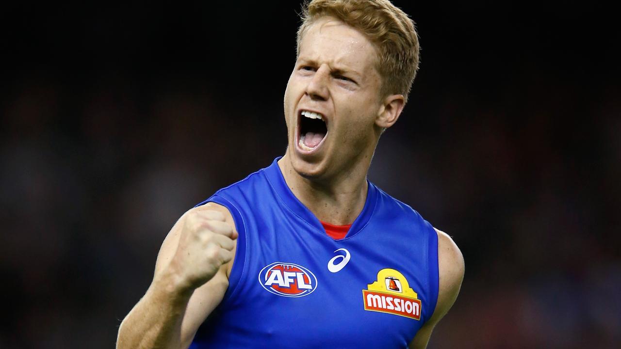
[[[284,95],[288,150],[283,163],[317,183],[340,183],[364,173],[378,142],[374,125],[381,109],[381,77],[376,48],[364,34],[339,20],[324,17],[302,37],[299,57]],[[343,71],[345,81],[334,73]],[[328,135],[318,152],[296,152],[297,111],[325,115]],[[284,171],[285,172],[285,171]]]

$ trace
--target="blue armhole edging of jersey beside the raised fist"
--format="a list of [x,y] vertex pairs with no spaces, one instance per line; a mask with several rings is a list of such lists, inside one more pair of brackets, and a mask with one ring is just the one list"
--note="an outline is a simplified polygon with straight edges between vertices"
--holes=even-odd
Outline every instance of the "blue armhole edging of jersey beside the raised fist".
[[246,240],[246,228],[243,221],[242,213],[237,209],[237,207],[225,199],[222,196],[214,194],[212,197],[209,197],[206,201],[201,202],[196,206],[201,206],[207,204],[207,202],[215,202],[216,204],[222,205],[229,209],[230,214],[233,216],[233,222],[235,223],[235,229],[237,229],[238,237],[237,237],[237,247],[235,250],[235,258],[233,258],[233,266],[231,267],[231,273],[229,275],[229,287],[224,294],[224,298],[220,304],[224,304],[224,302],[229,301],[237,292],[237,289],[241,283],[243,271],[246,266],[246,255],[247,255],[247,240]]

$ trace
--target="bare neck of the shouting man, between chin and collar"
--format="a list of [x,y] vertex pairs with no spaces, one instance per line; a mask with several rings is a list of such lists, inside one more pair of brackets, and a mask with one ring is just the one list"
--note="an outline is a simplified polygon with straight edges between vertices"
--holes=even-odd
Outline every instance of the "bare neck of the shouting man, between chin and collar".
[[[368,159],[368,160],[367,160]],[[366,173],[371,156],[356,161],[331,178],[305,178],[291,165],[289,150],[278,161],[289,189],[317,219],[334,225],[351,224],[365,207]]]

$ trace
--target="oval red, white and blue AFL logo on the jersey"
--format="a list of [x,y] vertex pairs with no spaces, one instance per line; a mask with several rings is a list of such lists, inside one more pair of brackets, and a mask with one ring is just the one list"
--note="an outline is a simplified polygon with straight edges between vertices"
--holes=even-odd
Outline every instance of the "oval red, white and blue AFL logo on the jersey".
[[283,297],[302,297],[317,288],[317,278],[310,270],[293,263],[276,262],[259,273],[263,288]]

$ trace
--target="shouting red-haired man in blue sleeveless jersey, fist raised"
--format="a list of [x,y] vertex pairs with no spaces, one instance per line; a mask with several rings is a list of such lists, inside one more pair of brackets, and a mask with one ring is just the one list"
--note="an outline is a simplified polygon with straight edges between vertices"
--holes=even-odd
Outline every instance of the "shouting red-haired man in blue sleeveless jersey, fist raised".
[[286,153],[178,220],[117,348],[425,348],[463,258],[366,180],[418,61],[414,24],[389,1],[311,1]]

